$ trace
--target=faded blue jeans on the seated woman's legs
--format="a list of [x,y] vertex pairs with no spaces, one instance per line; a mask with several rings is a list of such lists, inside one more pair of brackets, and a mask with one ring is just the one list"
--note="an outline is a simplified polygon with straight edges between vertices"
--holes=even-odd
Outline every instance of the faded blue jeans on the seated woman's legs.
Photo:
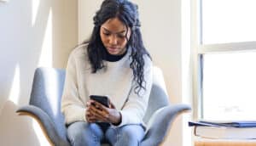
[[144,129],[141,125],[113,127],[78,121],[67,127],[67,137],[73,146],[100,146],[106,141],[112,146],[138,146]]

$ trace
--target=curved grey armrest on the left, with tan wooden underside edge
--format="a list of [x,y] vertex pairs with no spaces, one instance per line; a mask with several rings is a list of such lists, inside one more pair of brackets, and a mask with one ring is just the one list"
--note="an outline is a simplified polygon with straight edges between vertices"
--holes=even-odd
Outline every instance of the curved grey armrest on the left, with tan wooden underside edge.
[[60,137],[59,133],[56,131],[55,123],[50,119],[49,115],[47,115],[44,110],[33,106],[33,105],[26,105],[20,107],[16,110],[16,113],[19,115],[29,115],[32,116],[36,121],[38,121],[39,125],[41,126],[45,137],[48,139],[51,145],[56,146],[69,146],[70,144],[67,142],[66,139]]

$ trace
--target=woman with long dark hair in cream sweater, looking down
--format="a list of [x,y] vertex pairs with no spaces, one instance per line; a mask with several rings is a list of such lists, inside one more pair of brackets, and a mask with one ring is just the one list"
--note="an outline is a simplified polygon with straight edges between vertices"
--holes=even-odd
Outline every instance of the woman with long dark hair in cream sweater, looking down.
[[[61,101],[72,145],[139,145],[152,86],[152,62],[144,48],[137,6],[105,0],[94,17],[89,42],[67,62]],[[108,95],[109,106],[90,99]]]

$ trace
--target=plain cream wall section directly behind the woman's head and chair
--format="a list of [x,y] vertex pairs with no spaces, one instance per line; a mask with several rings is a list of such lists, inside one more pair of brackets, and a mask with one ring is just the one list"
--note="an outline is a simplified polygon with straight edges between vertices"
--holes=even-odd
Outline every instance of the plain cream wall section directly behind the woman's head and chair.
[[[102,1],[79,0],[79,42],[90,36],[92,17]],[[133,0],[139,6],[143,40],[154,65],[164,73],[172,103],[182,102],[182,24],[181,1]],[[183,145],[182,118],[172,126],[172,134],[163,145]]]

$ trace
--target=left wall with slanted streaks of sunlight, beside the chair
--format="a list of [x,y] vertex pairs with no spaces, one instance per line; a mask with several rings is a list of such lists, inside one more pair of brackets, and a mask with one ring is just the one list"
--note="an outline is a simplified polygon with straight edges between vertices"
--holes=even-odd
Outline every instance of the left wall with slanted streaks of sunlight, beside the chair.
[[[0,3],[0,142],[40,145],[37,124],[17,116],[28,104],[38,66],[66,67],[78,42],[77,0],[9,0]],[[45,143],[41,144],[45,145]]]

